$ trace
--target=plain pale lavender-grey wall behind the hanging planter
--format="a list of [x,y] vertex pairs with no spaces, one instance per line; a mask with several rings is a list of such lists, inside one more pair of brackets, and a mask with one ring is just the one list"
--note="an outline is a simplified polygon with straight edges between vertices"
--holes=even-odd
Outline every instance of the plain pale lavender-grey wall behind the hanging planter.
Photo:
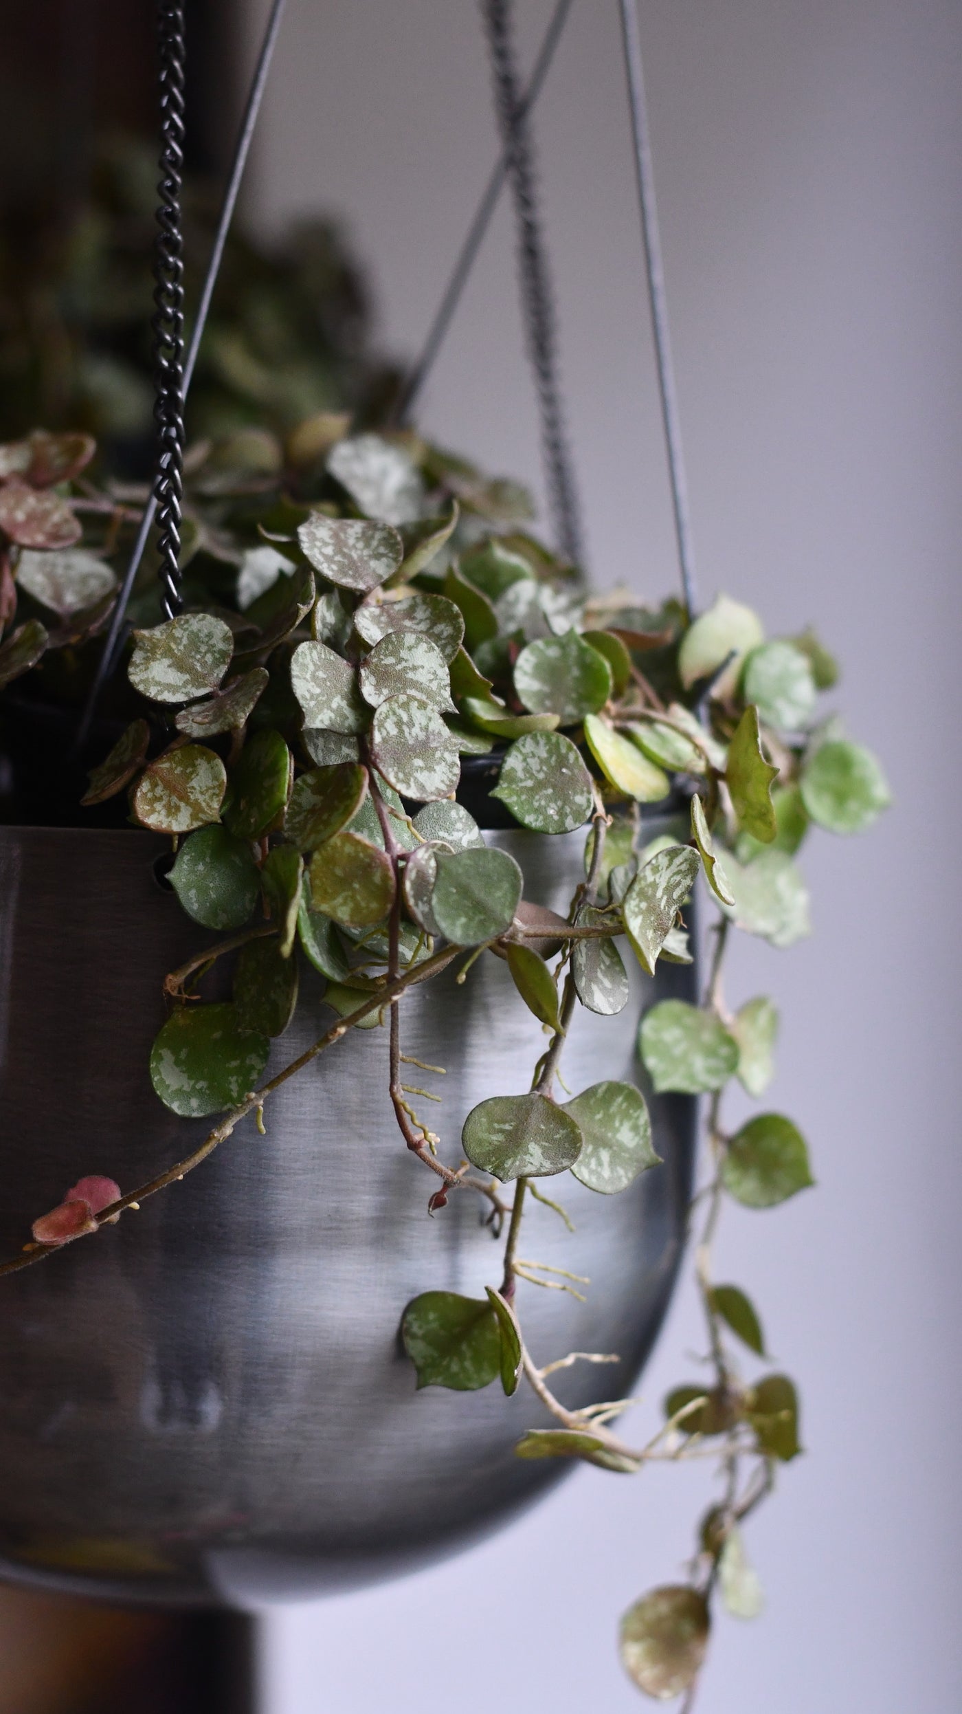
[[[258,0],[260,3],[260,0]],[[519,0],[531,46],[548,0]],[[257,7],[252,0],[252,33]],[[336,207],[409,350],[493,149],[471,0],[291,0],[255,171],[264,219]],[[774,632],[817,619],[897,804],[813,840],[815,939],[750,946],[772,986],[774,1104],[818,1190],[726,1217],[721,1267],[801,1378],[808,1457],[750,1527],[767,1589],[719,1623],[704,1714],[960,1704],[953,1013],[962,442],[959,74],[950,0],[673,0],[642,10],[702,595]],[[615,0],[577,0],[539,125],[572,430],[601,584],[673,581]],[[425,408],[536,476],[510,228],[500,221]],[[681,1294],[644,1380],[700,1342]],[[467,1556],[291,1609],[267,1714],[573,1714],[642,1704],[616,1613],[690,1551],[704,1477],[579,1472]],[[495,1664],[496,1661],[496,1664]]]

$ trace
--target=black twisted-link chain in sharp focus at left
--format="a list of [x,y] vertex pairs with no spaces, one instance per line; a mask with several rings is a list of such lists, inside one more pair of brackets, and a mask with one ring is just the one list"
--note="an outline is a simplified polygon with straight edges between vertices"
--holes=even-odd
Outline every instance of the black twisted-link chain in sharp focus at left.
[[157,555],[161,605],[180,612],[180,514],[183,502],[183,0],[157,0],[161,154],[154,245],[154,418],[157,423]]

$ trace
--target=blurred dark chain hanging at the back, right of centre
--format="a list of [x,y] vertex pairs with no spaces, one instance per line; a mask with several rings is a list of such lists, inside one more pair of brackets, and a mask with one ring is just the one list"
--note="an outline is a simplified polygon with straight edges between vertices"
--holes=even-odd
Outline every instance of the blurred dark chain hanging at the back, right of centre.
[[541,447],[548,482],[548,504],[558,547],[573,566],[579,566],[582,562],[584,538],[558,384],[558,334],[548,257],[537,213],[534,151],[529,127],[531,103],[524,98],[517,74],[510,0],[481,0],[481,10],[491,57],[495,108],[515,206],[522,309],[527,353],[534,370],[537,408],[541,413]]

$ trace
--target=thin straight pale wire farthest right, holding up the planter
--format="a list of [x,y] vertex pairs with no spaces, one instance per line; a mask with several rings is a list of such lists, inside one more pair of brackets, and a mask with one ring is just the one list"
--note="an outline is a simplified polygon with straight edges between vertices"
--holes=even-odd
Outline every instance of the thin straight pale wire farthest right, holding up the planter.
[[671,338],[668,333],[664,269],[661,262],[661,237],[657,226],[657,204],[654,195],[652,151],[650,151],[649,118],[645,103],[645,77],[642,65],[642,36],[638,31],[637,0],[620,0],[620,7],[621,7],[621,38],[625,45],[625,74],[628,79],[628,106],[632,110],[632,135],[635,142],[635,177],[638,185],[638,207],[642,216],[645,274],[649,285],[649,303],[652,314],[654,348],[657,363],[657,387],[661,394],[664,444],[668,451],[668,473],[671,478],[674,535],[678,540],[678,564],[681,569],[681,591],[685,596],[685,607],[688,608],[688,617],[693,619],[695,554],[692,547],[692,519],[688,516],[688,485],[685,482],[681,420],[678,415],[678,396],[674,393],[674,369],[671,363]]

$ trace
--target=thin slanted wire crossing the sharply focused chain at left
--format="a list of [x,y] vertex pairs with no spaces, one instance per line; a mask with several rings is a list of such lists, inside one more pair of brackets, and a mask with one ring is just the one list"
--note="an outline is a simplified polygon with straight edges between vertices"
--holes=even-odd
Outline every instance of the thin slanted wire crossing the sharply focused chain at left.
[[[224,255],[224,245],[228,242],[228,233],[231,230],[231,221],[233,221],[233,216],[235,216],[235,207],[236,207],[236,201],[238,201],[238,194],[240,194],[240,187],[241,187],[241,180],[243,180],[243,170],[246,166],[246,158],[248,158],[248,153],[250,153],[250,144],[252,144],[252,137],[253,137],[253,129],[257,125],[257,115],[260,111],[260,103],[262,103],[262,98],[264,98],[264,91],[267,87],[267,74],[270,70],[270,60],[274,57],[274,46],[276,46],[276,41],[277,41],[277,34],[281,31],[281,17],[284,14],[286,3],[288,3],[288,0],[274,0],[274,3],[270,7],[270,15],[267,19],[267,27],[264,31],[264,41],[260,45],[260,53],[257,57],[257,67],[255,67],[253,79],[252,79],[252,84],[250,84],[250,91],[248,91],[248,96],[246,96],[246,105],[245,105],[245,111],[243,111],[243,118],[241,118],[241,125],[240,125],[240,132],[238,132],[238,141],[235,144],[235,158],[231,161],[231,171],[229,171],[228,185],[226,185],[226,190],[224,190],[224,201],[221,204],[221,218],[217,221],[217,231],[216,231],[216,237],[214,237],[214,243],[211,247],[211,257],[209,257],[209,262],[207,262],[207,274],[205,274],[205,279],[204,279],[204,288],[200,291],[200,302],[197,305],[197,315],[193,319],[193,331],[190,334],[190,346],[187,350],[187,358],[185,358],[185,363],[183,363],[183,399],[187,399],[187,394],[190,391],[190,382],[193,379],[193,370],[195,370],[195,365],[197,365],[197,353],[200,350],[200,339],[204,338],[204,327],[207,324],[207,314],[211,310],[211,300],[214,297],[214,286],[217,285],[217,274],[221,271],[221,261],[223,261],[223,255]],[[137,572],[140,569],[140,560],[144,559],[144,550],[147,547],[147,542],[149,542],[149,536],[151,536],[151,530],[154,526],[156,511],[157,511],[157,495],[156,495],[156,490],[154,490],[154,494],[151,495],[151,499],[149,499],[149,502],[147,502],[147,506],[144,509],[144,516],[140,519],[140,528],[137,531],[137,540],[135,540],[134,548],[130,552],[130,560],[127,564],[123,583],[120,586],[120,595],[118,595],[116,605],[113,608],[113,619],[111,619],[110,632],[108,632],[108,638],[106,638],[106,643],[104,643],[104,648],[103,648],[103,653],[101,653],[101,658],[99,658],[98,674],[96,674],[94,684],[91,687],[91,694],[87,698],[87,704],[84,708],[84,718],[82,718],[80,727],[77,730],[77,737],[75,737],[75,744],[74,744],[75,749],[79,749],[84,744],[84,740],[87,737],[87,732],[91,730],[91,722],[94,718],[96,706],[98,706],[98,701],[101,698],[101,691],[103,691],[106,680],[110,679],[110,675],[113,674],[113,670],[116,667],[116,662],[120,658],[120,650],[123,648],[123,622],[125,622],[125,617],[127,617],[127,607],[130,603],[130,595],[134,591],[134,583],[135,583]]]

